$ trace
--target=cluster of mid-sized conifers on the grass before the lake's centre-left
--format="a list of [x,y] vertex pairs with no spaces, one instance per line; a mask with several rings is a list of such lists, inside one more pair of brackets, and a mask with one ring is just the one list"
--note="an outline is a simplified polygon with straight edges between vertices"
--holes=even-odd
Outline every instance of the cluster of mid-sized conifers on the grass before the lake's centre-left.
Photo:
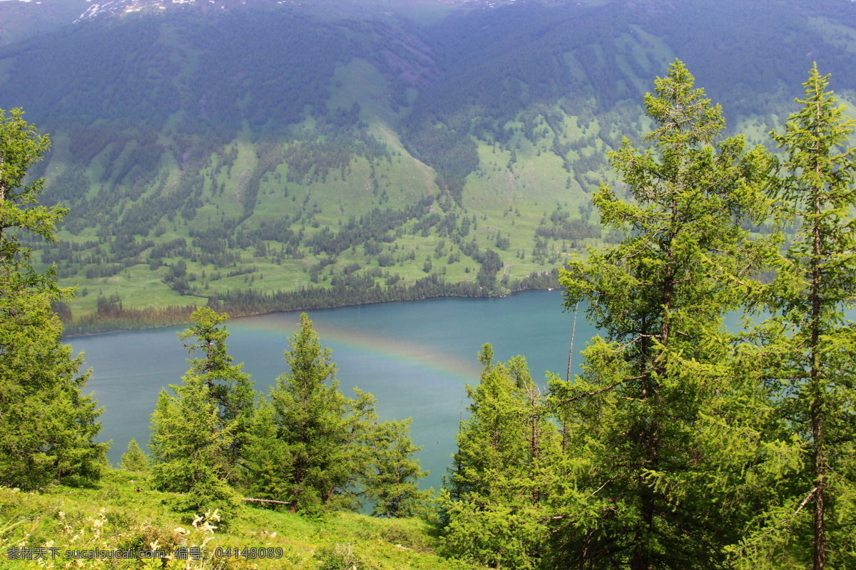
[[[193,326],[179,334],[192,339],[187,350],[204,357],[158,397],[149,444],[154,485],[181,493],[176,508],[193,512],[234,514],[240,490],[269,501],[265,506],[319,514],[356,506],[361,491],[376,502],[376,514],[412,514],[425,498],[415,485],[425,473],[412,458],[418,448],[407,436],[409,422],[378,425],[371,394],[342,395],[330,350],[306,314],[286,351],[290,372],[258,407],[242,365],[231,363],[226,319],[198,309]],[[122,460],[128,469],[145,462],[132,443]]]

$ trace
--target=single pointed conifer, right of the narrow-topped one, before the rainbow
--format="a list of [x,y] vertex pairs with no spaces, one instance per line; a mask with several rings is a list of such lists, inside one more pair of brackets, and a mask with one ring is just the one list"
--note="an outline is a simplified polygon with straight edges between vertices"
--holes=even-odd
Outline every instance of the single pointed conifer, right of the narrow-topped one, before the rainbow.
[[288,372],[253,422],[250,488],[259,498],[288,502],[292,512],[350,507],[372,461],[374,397],[360,391],[354,400],[344,397],[331,357],[301,314],[285,352]]

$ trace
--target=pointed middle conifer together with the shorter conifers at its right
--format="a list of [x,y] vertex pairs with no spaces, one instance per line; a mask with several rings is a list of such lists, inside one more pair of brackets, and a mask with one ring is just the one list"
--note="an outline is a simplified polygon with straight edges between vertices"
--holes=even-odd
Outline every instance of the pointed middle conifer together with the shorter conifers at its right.
[[371,394],[342,395],[330,349],[305,313],[288,347],[288,372],[253,422],[247,452],[253,493],[288,502],[292,512],[317,514],[354,506],[363,485],[377,501],[376,514],[412,512],[420,497],[413,484],[423,475],[410,457],[416,448],[407,425],[378,426]]

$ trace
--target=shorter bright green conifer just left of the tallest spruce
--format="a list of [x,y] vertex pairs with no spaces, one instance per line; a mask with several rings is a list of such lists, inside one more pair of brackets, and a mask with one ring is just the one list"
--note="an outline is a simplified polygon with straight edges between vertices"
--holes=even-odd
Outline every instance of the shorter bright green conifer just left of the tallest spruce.
[[495,362],[485,344],[479,360],[484,369],[478,386],[467,385],[470,418],[444,484],[441,551],[490,567],[538,567],[558,434],[522,357]]

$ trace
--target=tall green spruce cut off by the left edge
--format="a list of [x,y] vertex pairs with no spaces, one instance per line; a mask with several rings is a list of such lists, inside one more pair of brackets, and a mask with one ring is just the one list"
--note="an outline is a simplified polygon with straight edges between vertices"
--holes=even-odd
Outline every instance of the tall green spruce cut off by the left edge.
[[33,489],[68,477],[98,479],[108,444],[93,442],[100,409],[83,396],[82,357],[61,344],[51,303],[68,295],[51,269],[33,268],[21,235],[54,241],[60,207],[37,205],[44,179],[27,170],[50,147],[21,109],[0,109],[0,484]]

